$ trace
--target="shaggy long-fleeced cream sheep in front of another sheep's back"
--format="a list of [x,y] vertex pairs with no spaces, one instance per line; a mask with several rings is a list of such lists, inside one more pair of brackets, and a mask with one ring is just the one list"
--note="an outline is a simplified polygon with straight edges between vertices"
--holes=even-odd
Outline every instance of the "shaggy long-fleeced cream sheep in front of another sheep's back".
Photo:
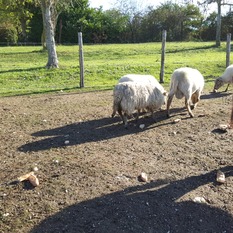
[[132,81],[118,83],[113,90],[112,117],[118,112],[125,127],[127,117],[135,110],[139,112],[140,109],[147,109],[154,118],[154,111],[165,103],[166,92],[161,92],[160,86]]

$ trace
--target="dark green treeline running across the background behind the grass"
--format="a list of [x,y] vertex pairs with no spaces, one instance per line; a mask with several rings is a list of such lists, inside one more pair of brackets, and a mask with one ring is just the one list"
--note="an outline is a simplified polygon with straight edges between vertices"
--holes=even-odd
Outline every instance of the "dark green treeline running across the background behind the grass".
[[[41,8],[34,1],[26,1],[19,8],[6,7],[2,0],[0,13],[1,43],[41,42]],[[85,43],[156,42],[165,29],[168,41],[211,41],[216,38],[216,17],[216,12],[204,17],[196,5],[171,1],[145,11],[133,7],[103,11],[90,8],[88,0],[74,0],[57,14],[55,39],[58,44],[77,43],[81,31]],[[233,12],[222,16],[223,40],[227,33],[233,33]]]

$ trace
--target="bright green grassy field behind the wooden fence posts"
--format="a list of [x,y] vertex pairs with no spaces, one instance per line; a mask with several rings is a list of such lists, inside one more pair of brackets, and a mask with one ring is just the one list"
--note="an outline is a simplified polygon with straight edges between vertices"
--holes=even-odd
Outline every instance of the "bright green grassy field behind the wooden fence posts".
[[[201,71],[206,85],[225,69],[226,43],[168,42],[164,86],[174,69],[189,66]],[[0,96],[54,91],[112,89],[127,73],[151,74],[159,79],[161,43],[84,45],[85,88],[79,88],[78,46],[57,46],[59,69],[45,69],[47,52],[41,47],[0,47]]]

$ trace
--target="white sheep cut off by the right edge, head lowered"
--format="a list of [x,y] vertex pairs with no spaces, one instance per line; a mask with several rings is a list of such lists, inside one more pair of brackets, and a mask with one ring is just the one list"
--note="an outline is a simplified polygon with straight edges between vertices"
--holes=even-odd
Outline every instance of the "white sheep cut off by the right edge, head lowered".
[[217,92],[217,90],[222,87],[225,83],[228,83],[227,88],[225,92],[228,91],[228,87],[230,86],[230,83],[233,83],[233,65],[229,65],[224,73],[215,80],[214,84],[214,90],[213,92]]

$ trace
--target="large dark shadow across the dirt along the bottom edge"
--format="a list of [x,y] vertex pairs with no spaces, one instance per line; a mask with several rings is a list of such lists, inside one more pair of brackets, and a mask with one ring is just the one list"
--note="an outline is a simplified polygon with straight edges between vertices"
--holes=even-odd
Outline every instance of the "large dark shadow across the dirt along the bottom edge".
[[[233,175],[232,166],[221,171],[226,177]],[[183,180],[155,180],[129,187],[65,208],[43,220],[30,233],[233,232],[233,216],[227,212],[208,202],[179,200],[215,179],[216,171],[211,171]]]

